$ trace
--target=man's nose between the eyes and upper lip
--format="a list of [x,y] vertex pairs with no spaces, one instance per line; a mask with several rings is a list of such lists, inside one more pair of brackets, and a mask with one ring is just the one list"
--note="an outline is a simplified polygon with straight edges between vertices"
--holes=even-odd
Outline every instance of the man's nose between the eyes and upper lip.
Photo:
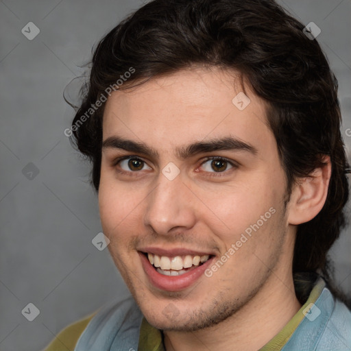
[[159,235],[167,235],[174,230],[183,232],[195,226],[193,194],[182,182],[181,176],[169,180],[160,173],[158,178],[158,186],[147,197],[144,225]]

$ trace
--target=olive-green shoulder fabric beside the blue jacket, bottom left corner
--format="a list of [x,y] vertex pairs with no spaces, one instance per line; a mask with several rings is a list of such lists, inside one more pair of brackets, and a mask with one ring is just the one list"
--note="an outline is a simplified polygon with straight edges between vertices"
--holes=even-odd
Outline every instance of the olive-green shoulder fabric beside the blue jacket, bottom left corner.
[[66,326],[44,351],[73,351],[80,335],[82,335],[82,332],[84,332],[86,326],[88,326],[95,314],[96,313],[93,313],[84,319],[80,319]]

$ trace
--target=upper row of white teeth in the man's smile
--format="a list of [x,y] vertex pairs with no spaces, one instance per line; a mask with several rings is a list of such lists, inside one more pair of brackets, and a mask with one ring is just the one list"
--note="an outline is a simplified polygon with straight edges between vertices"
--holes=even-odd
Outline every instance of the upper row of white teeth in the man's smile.
[[[198,266],[201,263],[205,263],[210,258],[209,255],[186,255],[186,256],[175,256],[175,257],[167,257],[167,256],[158,256],[154,254],[147,254],[147,258],[149,258],[149,263],[154,265],[154,267],[162,270],[172,269],[173,271],[181,271],[183,268],[190,268],[191,266]],[[168,275],[168,274],[167,274]],[[172,274],[175,275],[175,274]]]

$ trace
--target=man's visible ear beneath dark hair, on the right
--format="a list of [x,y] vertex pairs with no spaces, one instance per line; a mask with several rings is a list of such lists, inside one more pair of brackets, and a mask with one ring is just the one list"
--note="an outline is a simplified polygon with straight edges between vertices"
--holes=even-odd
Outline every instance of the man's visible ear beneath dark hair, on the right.
[[324,156],[322,161],[322,167],[316,168],[308,177],[298,179],[295,184],[289,202],[289,224],[311,221],[322,210],[332,173],[330,157]]

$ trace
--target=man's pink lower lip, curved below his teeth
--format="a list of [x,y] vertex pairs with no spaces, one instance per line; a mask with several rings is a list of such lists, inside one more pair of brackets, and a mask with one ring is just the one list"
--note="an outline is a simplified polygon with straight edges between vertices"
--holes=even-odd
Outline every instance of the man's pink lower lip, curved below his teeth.
[[165,276],[156,271],[145,254],[142,254],[141,252],[138,252],[138,254],[141,257],[143,269],[149,277],[149,280],[151,280],[152,284],[156,288],[166,291],[180,291],[190,287],[197,279],[199,279],[200,276],[204,274],[204,271],[213,260],[213,258],[210,258],[202,265],[199,265],[199,267],[191,269],[191,271],[188,271],[180,276]]

